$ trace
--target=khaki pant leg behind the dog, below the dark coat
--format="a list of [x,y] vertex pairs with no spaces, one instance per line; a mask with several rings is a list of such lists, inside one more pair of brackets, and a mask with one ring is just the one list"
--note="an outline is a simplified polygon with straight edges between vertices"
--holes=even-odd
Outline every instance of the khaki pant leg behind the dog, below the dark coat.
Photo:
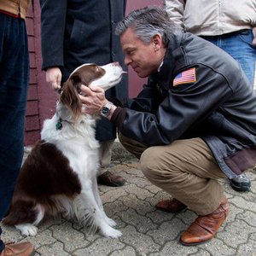
[[100,169],[99,175],[104,173],[106,171],[104,170],[104,168],[110,165],[113,143],[114,143],[114,140],[100,143],[101,147],[100,147],[99,154],[100,154],[101,169]]

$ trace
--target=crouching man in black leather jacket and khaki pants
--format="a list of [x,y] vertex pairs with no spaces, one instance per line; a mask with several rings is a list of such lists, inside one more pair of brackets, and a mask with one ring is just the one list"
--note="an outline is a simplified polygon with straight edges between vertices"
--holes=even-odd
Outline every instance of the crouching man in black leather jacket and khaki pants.
[[208,241],[229,212],[218,178],[256,164],[256,96],[230,55],[178,30],[164,9],[136,10],[116,31],[125,64],[148,84],[110,108],[103,90],[82,86],[85,113],[103,111],[118,126],[144,175],[172,195],[172,212],[189,207],[199,215],[183,245]]

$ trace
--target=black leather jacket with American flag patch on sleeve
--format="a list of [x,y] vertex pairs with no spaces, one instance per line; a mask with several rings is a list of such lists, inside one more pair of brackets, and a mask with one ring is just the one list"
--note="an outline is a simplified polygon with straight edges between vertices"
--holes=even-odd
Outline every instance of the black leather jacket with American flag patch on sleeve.
[[[173,85],[195,67],[195,82]],[[177,32],[160,72],[140,95],[117,108],[112,121],[126,137],[148,146],[201,137],[218,165],[235,177],[256,164],[256,96],[238,63],[222,49]]]

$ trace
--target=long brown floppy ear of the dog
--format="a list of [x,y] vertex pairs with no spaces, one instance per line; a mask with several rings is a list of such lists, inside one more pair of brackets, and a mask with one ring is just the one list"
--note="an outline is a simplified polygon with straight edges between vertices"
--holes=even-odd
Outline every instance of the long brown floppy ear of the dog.
[[75,83],[73,79],[67,79],[62,86],[60,102],[67,106],[72,112],[75,119],[81,114],[82,103],[79,98],[80,83]]

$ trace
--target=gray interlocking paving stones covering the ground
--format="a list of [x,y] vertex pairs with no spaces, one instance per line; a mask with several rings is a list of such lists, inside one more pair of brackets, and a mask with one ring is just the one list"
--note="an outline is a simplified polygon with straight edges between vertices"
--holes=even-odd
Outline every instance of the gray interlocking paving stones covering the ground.
[[228,181],[221,181],[230,202],[230,215],[211,241],[194,247],[184,247],[178,240],[196,218],[195,212],[172,214],[157,210],[154,205],[169,195],[148,182],[138,161],[118,142],[114,143],[108,170],[126,180],[119,188],[99,186],[105,212],[117,222],[116,228],[123,236],[112,239],[89,234],[88,228],[58,215],[44,219],[38,225],[38,235],[33,237],[3,225],[3,239],[32,241],[36,256],[256,256],[256,168],[247,172],[252,181],[249,192],[236,192]]

